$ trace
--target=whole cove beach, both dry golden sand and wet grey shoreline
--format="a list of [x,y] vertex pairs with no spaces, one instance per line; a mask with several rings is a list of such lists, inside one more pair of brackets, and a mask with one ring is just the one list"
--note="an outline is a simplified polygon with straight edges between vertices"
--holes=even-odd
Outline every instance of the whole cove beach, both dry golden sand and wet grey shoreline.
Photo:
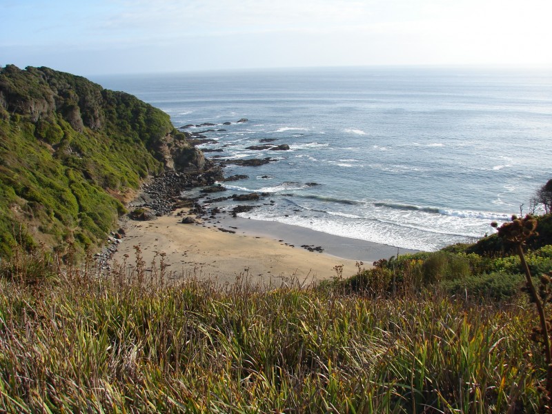
[[[175,279],[196,277],[233,284],[237,278],[246,277],[253,284],[281,286],[291,278],[308,284],[339,275],[350,277],[357,273],[357,263],[362,262],[354,257],[328,254],[328,251],[345,253],[348,247],[354,246],[353,239],[232,217],[221,217],[218,223],[182,224],[181,221],[182,216],[177,216],[176,211],[152,221],[126,220],[125,237],[112,257],[112,264],[135,266],[135,246],[138,246],[146,267],[153,259],[159,264],[164,253],[164,263]],[[294,244],[309,237],[310,242],[305,245],[320,246],[324,249],[322,253]],[[353,244],[348,245],[347,241]],[[374,260],[397,252],[392,246],[356,242],[366,245],[367,252],[371,250],[363,257],[371,255]],[[339,272],[336,266],[341,269]],[[361,268],[371,266],[372,262],[362,262]]]

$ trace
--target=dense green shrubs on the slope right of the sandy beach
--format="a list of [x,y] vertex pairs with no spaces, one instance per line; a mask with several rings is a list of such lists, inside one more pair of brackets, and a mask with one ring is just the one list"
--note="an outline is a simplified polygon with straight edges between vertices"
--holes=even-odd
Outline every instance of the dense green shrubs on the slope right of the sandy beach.
[[[526,242],[526,261],[535,277],[552,270],[552,215],[536,217],[538,235]],[[524,284],[524,269],[512,246],[497,235],[475,244],[457,244],[435,253],[382,259],[335,284],[348,293],[395,295],[437,286],[447,295],[511,299]]]

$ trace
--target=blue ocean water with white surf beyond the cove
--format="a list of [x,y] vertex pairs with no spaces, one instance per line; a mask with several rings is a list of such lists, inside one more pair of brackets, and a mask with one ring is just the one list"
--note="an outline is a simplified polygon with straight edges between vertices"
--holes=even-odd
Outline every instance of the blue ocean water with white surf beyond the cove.
[[[552,178],[552,72],[319,68],[91,77],[161,108],[175,126],[211,122],[207,157],[231,193],[270,193],[243,217],[435,250],[520,212]],[[237,124],[240,118],[247,118]],[[231,121],[229,126],[222,125]],[[207,128],[190,128],[189,131]],[[246,150],[261,139],[290,150]],[[316,183],[318,185],[313,185]]]

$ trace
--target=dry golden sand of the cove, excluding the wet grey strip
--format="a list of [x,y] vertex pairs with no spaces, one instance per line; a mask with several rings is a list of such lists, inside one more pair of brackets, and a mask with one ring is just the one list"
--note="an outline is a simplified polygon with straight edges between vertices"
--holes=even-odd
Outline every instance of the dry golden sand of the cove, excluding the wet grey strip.
[[[210,228],[209,228],[210,226]],[[279,286],[290,277],[312,282],[335,277],[335,266],[343,266],[343,276],[357,272],[356,261],[291,247],[269,237],[224,233],[212,224],[181,224],[175,215],[154,221],[128,220],[113,260],[134,264],[139,246],[146,266],[156,254],[165,253],[164,261],[174,275],[213,279],[219,283],[235,282],[246,276],[254,284]],[[157,257],[159,263],[159,257]],[[366,267],[366,265],[364,266]]]

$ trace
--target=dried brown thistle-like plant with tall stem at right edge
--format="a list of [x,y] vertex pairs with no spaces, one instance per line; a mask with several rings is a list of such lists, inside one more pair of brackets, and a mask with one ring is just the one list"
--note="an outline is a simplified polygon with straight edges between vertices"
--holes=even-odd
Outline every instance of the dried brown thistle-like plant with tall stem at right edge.
[[538,294],[531,278],[531,270],[529,270],[523,253],[523,246],[526,240],[529,237],[538,235],[536,231],[537,220],[531,215],[526,215],[523,218],[513,215],[512,220],[502,224],[502,226],[498,227],[495,221],[491,223],[491,226],[497,229],[499,237],[513,244],[515,247],[525,273],[526,288],[531,300],[535,302],[535,306],[537,307],[540,326],[533,328],[531,339],[541,346],[544,353],[544,360],[546,361],[546,389],[542,390],[544,391],[542,408],[545,412],[552,413],[552,406],[550,404],[552,402],[552,351],[549,335],[549,331],[552,328],[552,318],[546,319],[544,313],[544,306],[546,302],[549,302],[549,284],[551,279],[548,275],[542,275],[540,278],[540,294]]

